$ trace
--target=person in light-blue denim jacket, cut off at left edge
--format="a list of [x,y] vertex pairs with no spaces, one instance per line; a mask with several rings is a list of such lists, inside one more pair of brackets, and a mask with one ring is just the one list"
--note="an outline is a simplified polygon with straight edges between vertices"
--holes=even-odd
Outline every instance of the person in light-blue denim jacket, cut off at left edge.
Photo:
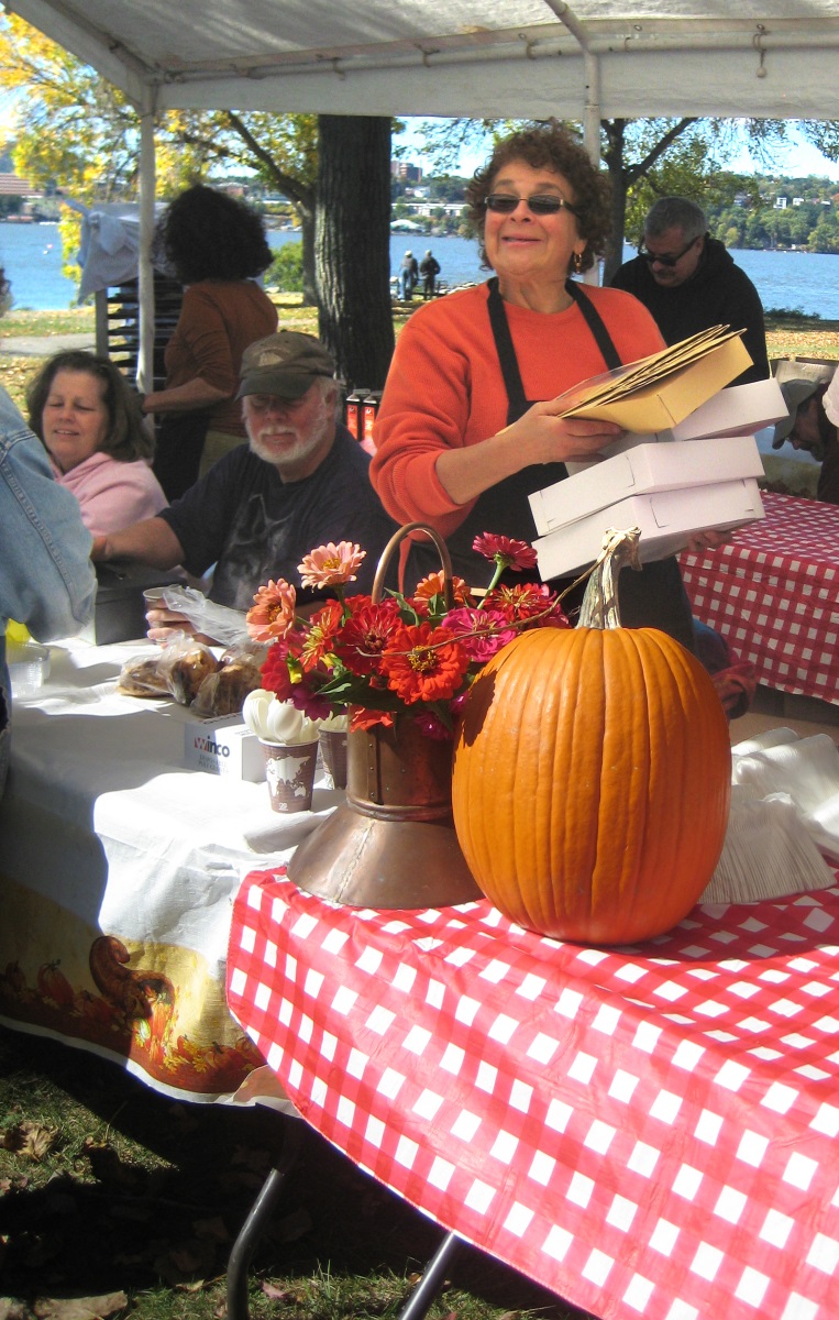
[[[9,282],[0,268],[0,315]],[[96,578],[77,500],[54,479],[44,446],[0,387],[0,795],[12,737],[5,632],[11,619],[40,642],[91,618]]]

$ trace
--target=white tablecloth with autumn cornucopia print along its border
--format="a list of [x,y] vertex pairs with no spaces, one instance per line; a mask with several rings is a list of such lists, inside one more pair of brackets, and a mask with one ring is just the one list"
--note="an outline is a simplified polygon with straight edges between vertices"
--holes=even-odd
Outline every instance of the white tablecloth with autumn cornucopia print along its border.
[[343,795],[270,810],[264,783],[183,768],[185,710],[115,692],[149,643],[53,648],[13,710],[0,805],[0,1020],[228,1098],[260,1063],[224,1001],[232,900]]

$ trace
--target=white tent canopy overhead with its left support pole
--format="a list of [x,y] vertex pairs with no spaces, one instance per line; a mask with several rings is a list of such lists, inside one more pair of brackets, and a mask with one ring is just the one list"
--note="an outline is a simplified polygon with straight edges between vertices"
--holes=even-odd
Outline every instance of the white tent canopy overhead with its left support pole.
[[[839,119],[839,0],[5,0],[141,112]],[[140,380],[152,275],[140,261]]]

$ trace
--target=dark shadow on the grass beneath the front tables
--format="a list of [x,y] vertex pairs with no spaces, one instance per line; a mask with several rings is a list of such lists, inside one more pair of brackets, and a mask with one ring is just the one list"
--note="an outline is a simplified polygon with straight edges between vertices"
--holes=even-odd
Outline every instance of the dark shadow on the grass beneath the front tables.
[[[29,1303],[223,1275],[294,1122],[171,1101],[106,1060],[0,1028],[0,1147],[1,1133],[24,1121],[59,1133],[41,1163],[0,1148],[0,1294]],[[307,1129],[252,1274],[408,1279],[441,1238]],[[475,1250],[450,1279],[488,1308],[583,1316]]]

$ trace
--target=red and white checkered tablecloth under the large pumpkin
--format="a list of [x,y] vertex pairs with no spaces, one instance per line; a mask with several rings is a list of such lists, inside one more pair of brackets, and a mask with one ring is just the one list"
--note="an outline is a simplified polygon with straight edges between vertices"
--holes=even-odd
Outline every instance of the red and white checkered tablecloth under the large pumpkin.
[[303,1117],[604,1320],[839,1315],[839,887],[636,949],[489,903],[235,903],[228,1003]]

